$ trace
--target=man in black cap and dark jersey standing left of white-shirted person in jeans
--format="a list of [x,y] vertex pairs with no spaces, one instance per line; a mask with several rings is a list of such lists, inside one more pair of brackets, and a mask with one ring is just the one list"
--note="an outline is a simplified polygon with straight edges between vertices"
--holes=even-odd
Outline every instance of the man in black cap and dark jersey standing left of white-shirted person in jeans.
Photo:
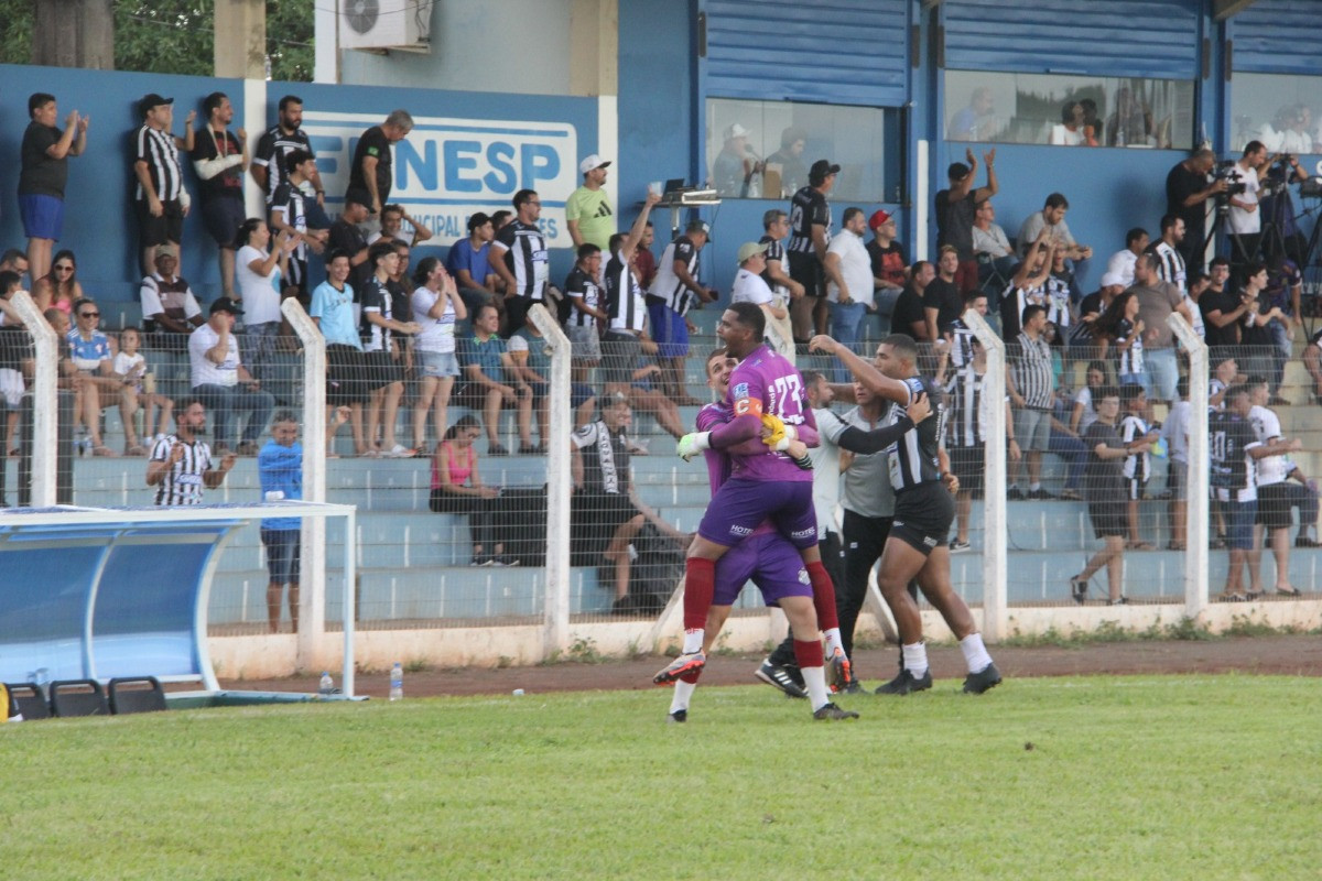
[[822,262],[830,244],[830,203],[826,194],[836,186],[839,165],[820,159],[808,169],[808,185],[789,201],[789,277],[804,288],[804,296],[791,304],[795,342],[808,342],[826,332],[826,279]]

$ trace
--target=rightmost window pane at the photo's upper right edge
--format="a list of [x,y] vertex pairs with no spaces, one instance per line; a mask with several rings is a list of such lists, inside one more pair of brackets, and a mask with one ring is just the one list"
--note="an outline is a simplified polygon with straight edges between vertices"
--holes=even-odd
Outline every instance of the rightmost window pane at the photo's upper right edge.
[[1313,104],[1322,77],[1241,74],[1231,79],[1231,147],[1263,141],[1270,153],[1322,153],[1322,122]]

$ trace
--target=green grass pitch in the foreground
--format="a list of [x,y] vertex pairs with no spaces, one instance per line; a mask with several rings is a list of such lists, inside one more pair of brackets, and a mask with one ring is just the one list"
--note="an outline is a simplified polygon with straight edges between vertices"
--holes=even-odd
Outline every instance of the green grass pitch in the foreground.
[[301,704],[0,726],[5,878],[1313,878],[1317,679]]

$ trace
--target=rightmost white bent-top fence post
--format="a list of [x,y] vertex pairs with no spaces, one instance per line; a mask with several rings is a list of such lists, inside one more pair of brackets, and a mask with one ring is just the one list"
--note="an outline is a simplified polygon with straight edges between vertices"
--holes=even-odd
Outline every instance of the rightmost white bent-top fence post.
[[1208,485],[1207,454],[1207,343],[1179,314],[1166,324],[1188,353],[1188,499],[1185,520],[1185,616],[1198,618],[1207,609]]

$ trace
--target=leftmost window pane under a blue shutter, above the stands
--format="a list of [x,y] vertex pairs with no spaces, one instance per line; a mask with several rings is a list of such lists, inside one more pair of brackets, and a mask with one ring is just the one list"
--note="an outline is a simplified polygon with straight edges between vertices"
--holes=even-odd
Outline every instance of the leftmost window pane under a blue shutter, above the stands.
[[841,170],[833,199],[899,201],[898,111],[785,100],[707,100],[707,180],[724,198],[787,199],[808,169]]

